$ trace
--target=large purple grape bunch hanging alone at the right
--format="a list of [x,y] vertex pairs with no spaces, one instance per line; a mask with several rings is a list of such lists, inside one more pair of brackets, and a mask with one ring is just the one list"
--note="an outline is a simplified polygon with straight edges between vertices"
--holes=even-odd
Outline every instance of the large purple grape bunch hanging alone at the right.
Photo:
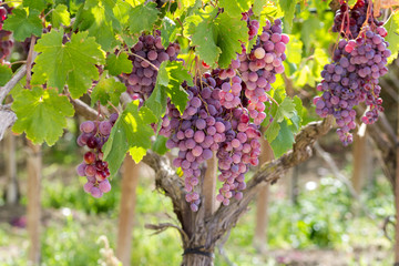
[[[345,6],[342,6],[345,7]],[[379,78],[388,72],[387,59],[391,52],[385,41],[387,30],[372,17],[372,2],[358,0],[352,9],[341,8],[344,18],[356,19],[358,28],[352,23],[335,20],[334,29],[344,29],[346,38],[338,42],[334,52],[332,63],[327,64],[321,72],[323,81],[317,85],[323,95],[315,98],[316,113],[321,117],[334,115],[338,125],[338,136],[344,145],[352,142],[351,130],[356,129],[355,106],[365,102],[367,111],[361,117],[365,124],[372,124],[382,112],[382,99]],[[352,20],[354,19],[354,20]]]

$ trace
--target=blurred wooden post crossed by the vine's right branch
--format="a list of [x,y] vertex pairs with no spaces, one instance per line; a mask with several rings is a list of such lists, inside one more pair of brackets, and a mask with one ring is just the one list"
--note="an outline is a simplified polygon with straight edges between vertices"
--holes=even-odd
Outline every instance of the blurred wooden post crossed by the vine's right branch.
[[[259,157],[259,165],[272,161],[274,158],[273,150],[270,144],[265,140],[260,140],[262,144],[262,154]],[[256,201],[256,227],[254,244],[259,249],[263,250],[266,248],[267,243],[267,225],[268,225],[268,197],[269,197],[269,185],[264,185],[258,194]]]

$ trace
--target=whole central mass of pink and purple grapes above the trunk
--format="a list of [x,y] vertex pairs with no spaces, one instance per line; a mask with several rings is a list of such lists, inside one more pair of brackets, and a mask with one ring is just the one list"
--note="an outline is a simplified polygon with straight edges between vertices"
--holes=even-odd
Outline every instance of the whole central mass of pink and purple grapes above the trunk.
[[[248,35],[254,38],[258,21],[250,20],[252,11],[243,13]],[[222,187],[216,200],[228,205],[231,198],[241,200],[245,190],[245,174],[249,165],[258,164],[260,154],[260,123],[266,117],[266,92],[284,72],[283,61],[288,35],[282,34],[282,21],[267,21],[252,51],[243,52],[227,69],[215,69],[186,88],[187,108],[183,114],[168,104],[160,134],[168,137],[168,149],[178,149],[174,166],[185,176],[186,201],[196,212],[201,203],[195,191],[201,180],[201,164],[216,152]],[[248,88],[249,86],[249,88]],[[244,93],[245,92],[245,93]]]

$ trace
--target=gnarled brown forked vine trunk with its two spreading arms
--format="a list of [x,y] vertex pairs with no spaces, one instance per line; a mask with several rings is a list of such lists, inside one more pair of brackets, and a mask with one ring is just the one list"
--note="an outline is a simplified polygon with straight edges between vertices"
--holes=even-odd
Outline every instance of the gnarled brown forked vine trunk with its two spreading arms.
[[175,174],[165,156],[149,151],[143,161],[155,171],[156,187],[172,200],[173,211],[181,225],[160,224],[147,227],[157,231],[167,227],[178,229],[184,248],[182,265],[213,265],[217,242],[236,225],[262,184],[265,182],[275,183],[287,170],[308,160],[313,155],[313,144],[330,130],[331,121],[332,117],[327,117],[323,122],[309,123],[305,126],[296,136],[296,143],[291,151],[262,165],[254,174],[253,178],[248,181],[241,201],[233,200],[228,206],[221,205],[212,215],[205,215],[204,204],[200,205],[198,212],[193,213],[191,211],[185,201],[183,178]]

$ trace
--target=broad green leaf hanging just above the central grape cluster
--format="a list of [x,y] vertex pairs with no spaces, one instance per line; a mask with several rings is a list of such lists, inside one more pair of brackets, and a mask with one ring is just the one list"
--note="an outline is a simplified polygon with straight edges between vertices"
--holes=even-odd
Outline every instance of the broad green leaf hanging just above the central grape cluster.
[[217,9],[207,7],[205,13],[186,19],[185,35],[192,35],[196,54],[211,66],[218,62],[219,68],[227,68],[236,53],[242,51],[242,42],[248,39],[246,22],[231,18],[227,13],[217,14]]

